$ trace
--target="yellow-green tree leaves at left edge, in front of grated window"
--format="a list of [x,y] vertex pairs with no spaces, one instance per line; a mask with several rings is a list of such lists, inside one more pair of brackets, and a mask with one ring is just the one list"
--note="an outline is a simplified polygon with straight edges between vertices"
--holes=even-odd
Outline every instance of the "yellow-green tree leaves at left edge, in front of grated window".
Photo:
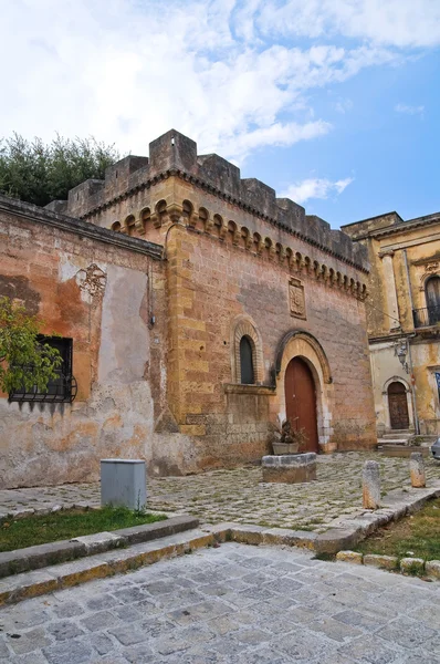
[[44,392],[62,364],[60,352],[39,341],[41,321],[22,304],[0,298],[0,390]]

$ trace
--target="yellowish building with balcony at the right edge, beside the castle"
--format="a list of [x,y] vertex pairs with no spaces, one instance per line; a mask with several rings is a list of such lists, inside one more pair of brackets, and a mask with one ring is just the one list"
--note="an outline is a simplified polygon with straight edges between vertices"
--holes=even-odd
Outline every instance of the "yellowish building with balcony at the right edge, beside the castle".
[[367,321],[378,434],[440,435],[440,214],[343,227],[371,264]]

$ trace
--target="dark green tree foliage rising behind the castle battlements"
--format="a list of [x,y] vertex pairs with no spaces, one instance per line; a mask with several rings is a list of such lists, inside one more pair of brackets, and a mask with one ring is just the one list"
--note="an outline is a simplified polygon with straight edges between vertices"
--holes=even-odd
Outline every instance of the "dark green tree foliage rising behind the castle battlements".
[[13,134],[0,139],[0,193],[40,206],[64,200],[84,180],[103,179],[118,158],[114,145],[95,138],[56,135],[45,145],[41,138],[30,142]]

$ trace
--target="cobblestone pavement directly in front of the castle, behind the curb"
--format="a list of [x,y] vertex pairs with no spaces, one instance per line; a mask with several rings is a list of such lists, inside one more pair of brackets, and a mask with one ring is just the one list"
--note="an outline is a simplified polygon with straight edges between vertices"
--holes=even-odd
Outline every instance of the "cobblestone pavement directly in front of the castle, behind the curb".
[[[383,494],[409,486],[409,459],[387,458],[380,453],[345,453],[317,457],[317,481],[311,484],[263,484],[261,468],[255,466],[151,479],[148,507],[185,512],[206,522],[238,521],[322,531],[339,517],[362,510],[362,468],[369,458],[380,463]],[[428,480],[439,479],[440,464],[427,459],[426,465]],[[98,505],[99,486],[0,491],[0,512],[74,504]]]

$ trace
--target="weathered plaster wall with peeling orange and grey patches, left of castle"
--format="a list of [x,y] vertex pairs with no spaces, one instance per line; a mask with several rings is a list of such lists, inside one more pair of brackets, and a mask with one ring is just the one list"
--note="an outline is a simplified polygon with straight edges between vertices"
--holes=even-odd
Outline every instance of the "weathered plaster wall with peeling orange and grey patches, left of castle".
[[[0,294],[39,314],[43,332],[73,339],[78,382],[73,404],[0,396],[0,487],[88,481],[116,456],[145,458],[151,474],[195,470],[187,436],[154,433],[168,413],[163,263],[8,215],[0,253]],[[94,294],[92,264],[104,276]]]

